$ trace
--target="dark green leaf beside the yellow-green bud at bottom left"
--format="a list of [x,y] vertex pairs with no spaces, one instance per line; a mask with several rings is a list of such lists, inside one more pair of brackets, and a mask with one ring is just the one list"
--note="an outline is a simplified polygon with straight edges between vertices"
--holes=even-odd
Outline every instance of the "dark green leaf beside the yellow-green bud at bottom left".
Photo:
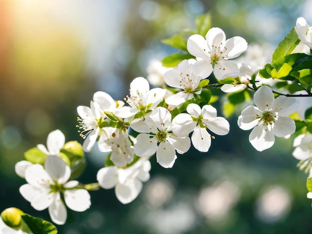
[[56,227],[48,221],[27,214],[23,214],[21,218],[33,234],[57,234]]

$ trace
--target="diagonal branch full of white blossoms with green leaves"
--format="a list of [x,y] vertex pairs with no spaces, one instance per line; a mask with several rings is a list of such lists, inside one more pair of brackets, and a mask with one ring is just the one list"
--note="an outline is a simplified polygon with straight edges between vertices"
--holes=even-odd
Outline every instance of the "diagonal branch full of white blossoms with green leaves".
[[[311,27],[304,18],[298,19],[295,30],[298,38],[312,48]],[[306,69],[307,63],[299,67],[287,62],[281,65],[281,61],[286,60],[273,56],[272,64],[263,64],[263,69],[255,71],[248,64],[230,60],[247,50],[245,39],[236,36],[226,40],[223,30],[215,27],[208,30],[205,38],[199,34],[191,35],[186,45],[188,55],[193,58],[178,61],[171,69],[161,67],[162,88],[151,89],[147,79],[137,77],[130,84],[130,94],[125,102],[115,101],[105,92],[96,92],[90,107],[77,108],[76,127],[84,139],[83,151],[90,152],[97,144],[105,153],[105,167],[98,171],[96,185],[69,181],[83,168],[84,155],[83,152],[77,153],[76,146],[69,147],[65,143],[60,130],[48,135],[47,147],[38,144],[32,149],[31,152],[35,151],[42,160],[36,158],[16,163],[16,174],[27,182],[19,191],[34,209],[48,208],[51,220],[64,224],[67,217],[64,203],[71,210],[85,211],[91,205],[87,190],[99,187],[115,188],[117,199],[127,204],[138,197],[143,182],[150,179],[150,159],[153,160],[154,155],[160,166],[171,168],[177,155],[186,153],[191,144],[198,151],[207,152],[212,139],[216,138],[214,134],[226,135],[230,130],[229,122],[218,116],[217,109],[212,106],[210,89],[213,88],[221,88],[226,93],[232,109],[240,107],[236,106],[239,104],[237,99],[246,101],[252,92],[255,106],[246,107],[237,121],[243,130],[253,128],[249,135],[251,145],[263,151],[273,146],[275,136],[287,137],[298,131],[293,155],[301,160],[302,168],[310,170],[312,111],[307,112],[306,118],[309,119],[306,122],[296,119],[302,123],[300,132],[294,118],[290,117],[300,107],[298,99],[263,85],[266,79],[281,78],[283,86],[288,86],[287,79],[296,80],[303,84],[302,90],[312,96],[311,84],[306,85],[300,73],[300,69]],[[290,52],[287,55],[292,56]],[[294,59],[312,61],[311,55],[300,53],[294,56]],[[159,74],[155,69],[153,73]],[[211,74],[218,83],[209,84]],[[308,197],[312,197],[311,194]]]

